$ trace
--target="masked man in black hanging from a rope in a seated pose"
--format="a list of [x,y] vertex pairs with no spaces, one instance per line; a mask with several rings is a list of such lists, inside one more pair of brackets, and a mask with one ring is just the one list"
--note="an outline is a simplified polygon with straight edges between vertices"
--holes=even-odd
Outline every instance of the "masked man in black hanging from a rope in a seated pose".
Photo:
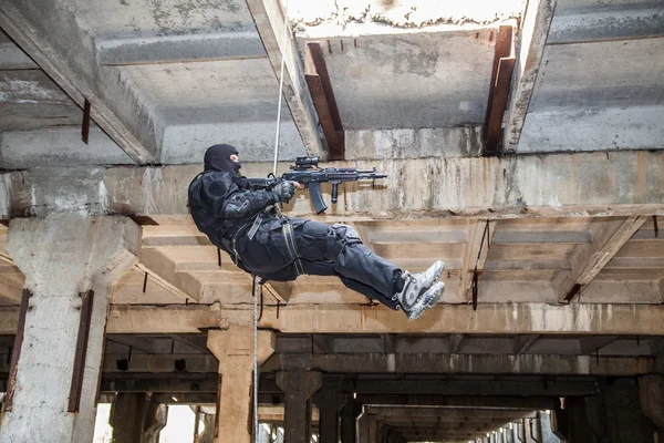
[[240,176],[235,147],[210,146],[205,171],[189,185],[189,208],[198,229],[230,255],[236,265],[264,280],[290,281],[298,275],[338,276],[349,288],[381,303],[403,309],[415,320],[435,306],[445,288],[436,261],[424,272],[403,271],[362,244],[346,225],[325,225],[277,213],[289,202],[294,182],[271,188]]

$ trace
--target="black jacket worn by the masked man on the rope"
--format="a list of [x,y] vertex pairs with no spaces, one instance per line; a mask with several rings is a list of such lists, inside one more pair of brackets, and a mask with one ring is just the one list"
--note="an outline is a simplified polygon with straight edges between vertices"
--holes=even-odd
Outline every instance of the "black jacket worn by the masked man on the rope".
[[277,203],[271,190],[252,187],[227,172],[205,172],[189,185],[189,208],[198,229],[234,256],[230,239],[253,216]]

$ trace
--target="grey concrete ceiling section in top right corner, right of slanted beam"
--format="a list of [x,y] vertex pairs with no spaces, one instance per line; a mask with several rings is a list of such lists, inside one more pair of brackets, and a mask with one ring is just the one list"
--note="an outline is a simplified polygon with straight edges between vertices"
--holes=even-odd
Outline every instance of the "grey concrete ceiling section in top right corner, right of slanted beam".
[[517,152],[664,146],[664,6],[560,0]]

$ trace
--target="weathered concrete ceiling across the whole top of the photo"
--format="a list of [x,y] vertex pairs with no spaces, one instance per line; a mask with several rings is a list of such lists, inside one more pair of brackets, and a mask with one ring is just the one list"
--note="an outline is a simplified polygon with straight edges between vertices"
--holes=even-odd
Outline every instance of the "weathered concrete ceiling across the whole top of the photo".
[[[196,164],[219,141],[241,146],[249,162],[271,156],[280,56],[261,37],[281,34],[257,29],[262,16],[245,1],[73,1],[53,11],[38,0],[4,3],[4,25],[30,32],[7,29],[21,49],[0,37],[0,166],[132,162],[103,132],[87,151],[77,143],[82,96],[139,163]],[[521,1],[479,3],[294,1],[300,53],[287,75],[302,69],[307,41],[322,43],[347,158],[481,155],[498,25],[528,17]],[[662,148],[663,17],[660,2],[559,1],[532,31],[548,39],[530,66],[537,80],[520,141],[507,150]],[[284,104],[281,157],[315,153],[313,126],[300,109],[293,120],[292,99]]]

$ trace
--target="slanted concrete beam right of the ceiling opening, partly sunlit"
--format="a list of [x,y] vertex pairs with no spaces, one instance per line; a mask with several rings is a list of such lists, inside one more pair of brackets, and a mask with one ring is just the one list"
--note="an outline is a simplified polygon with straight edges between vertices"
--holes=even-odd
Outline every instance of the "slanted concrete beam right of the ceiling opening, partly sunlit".
[[512,74],[511,99],[506,116],[504,145],[513,152],[519,144],[526,114],[537,82],[557,0],[529,1],[520,29],[520,49]]

